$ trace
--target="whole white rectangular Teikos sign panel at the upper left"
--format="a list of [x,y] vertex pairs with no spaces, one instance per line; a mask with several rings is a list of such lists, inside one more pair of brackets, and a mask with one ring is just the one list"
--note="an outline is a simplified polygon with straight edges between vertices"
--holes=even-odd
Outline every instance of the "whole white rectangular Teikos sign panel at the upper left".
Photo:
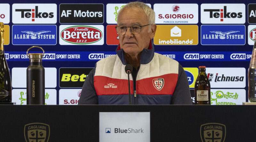
[[55,24],[56,4],[12,4],[14,24]]

